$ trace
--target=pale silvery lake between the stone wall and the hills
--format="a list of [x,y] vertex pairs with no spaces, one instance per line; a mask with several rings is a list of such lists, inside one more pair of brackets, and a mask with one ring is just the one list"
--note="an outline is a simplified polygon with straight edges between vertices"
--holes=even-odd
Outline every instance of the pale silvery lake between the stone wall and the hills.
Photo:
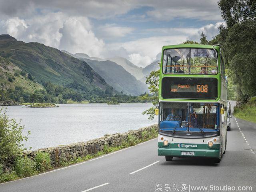
[[59,108],[25,108],[8,106],[10,118],[21,121],[24,134],[30,130],[24,145],[32,150],[87,141],[105,134],[123,133],[128,130],[158,123],[148,120],[142,112],[151,103],[141,104],[59,104]]

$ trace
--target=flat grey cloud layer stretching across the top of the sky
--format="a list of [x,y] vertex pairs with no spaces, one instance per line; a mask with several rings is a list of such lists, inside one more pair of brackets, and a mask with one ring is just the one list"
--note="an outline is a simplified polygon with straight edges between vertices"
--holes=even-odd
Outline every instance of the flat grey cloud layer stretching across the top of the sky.
[[[147,12],[152,20],[196,18],[199,20],[222,20],[216,0],[0,0],[0,14],[29,17],[39,12],[65,12],[69,16],[85,16],[96,19],[126,14],[134,8],[150,7]],[[136,20],[137,18],[134,18]]]

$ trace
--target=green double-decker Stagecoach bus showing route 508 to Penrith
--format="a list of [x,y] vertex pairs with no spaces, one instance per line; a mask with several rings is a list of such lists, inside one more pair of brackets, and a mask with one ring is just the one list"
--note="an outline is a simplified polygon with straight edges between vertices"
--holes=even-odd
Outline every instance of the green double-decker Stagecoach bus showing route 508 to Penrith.
[[227,145],[227,79],[219,45],[163,47],[156,114],[158,156],[220,162]]

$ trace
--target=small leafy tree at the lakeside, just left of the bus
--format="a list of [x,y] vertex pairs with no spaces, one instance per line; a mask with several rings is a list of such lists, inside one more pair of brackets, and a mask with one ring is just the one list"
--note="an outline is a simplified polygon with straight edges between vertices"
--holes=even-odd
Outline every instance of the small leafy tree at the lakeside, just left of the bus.
[[152,71],[148,77],[146,77],[146,84],[149,85],[148,89],[151,95],[145,94],[141,96],[143,100],[153,100],[152,104],[154,107],[150,107],[146,111],[142,112],[142,114],[148,114],[148,119],[154,119],[155,109],[158,105],[158,92],[159,92],[159,74],[160,70]]

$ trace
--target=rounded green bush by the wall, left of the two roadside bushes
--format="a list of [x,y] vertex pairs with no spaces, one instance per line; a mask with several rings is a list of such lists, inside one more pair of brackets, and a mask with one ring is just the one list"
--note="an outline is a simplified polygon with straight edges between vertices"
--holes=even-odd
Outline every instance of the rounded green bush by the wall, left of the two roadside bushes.
[[20,177],[37,174],[36,163],[27,156],[17,156],[14,162],[14,170]]

